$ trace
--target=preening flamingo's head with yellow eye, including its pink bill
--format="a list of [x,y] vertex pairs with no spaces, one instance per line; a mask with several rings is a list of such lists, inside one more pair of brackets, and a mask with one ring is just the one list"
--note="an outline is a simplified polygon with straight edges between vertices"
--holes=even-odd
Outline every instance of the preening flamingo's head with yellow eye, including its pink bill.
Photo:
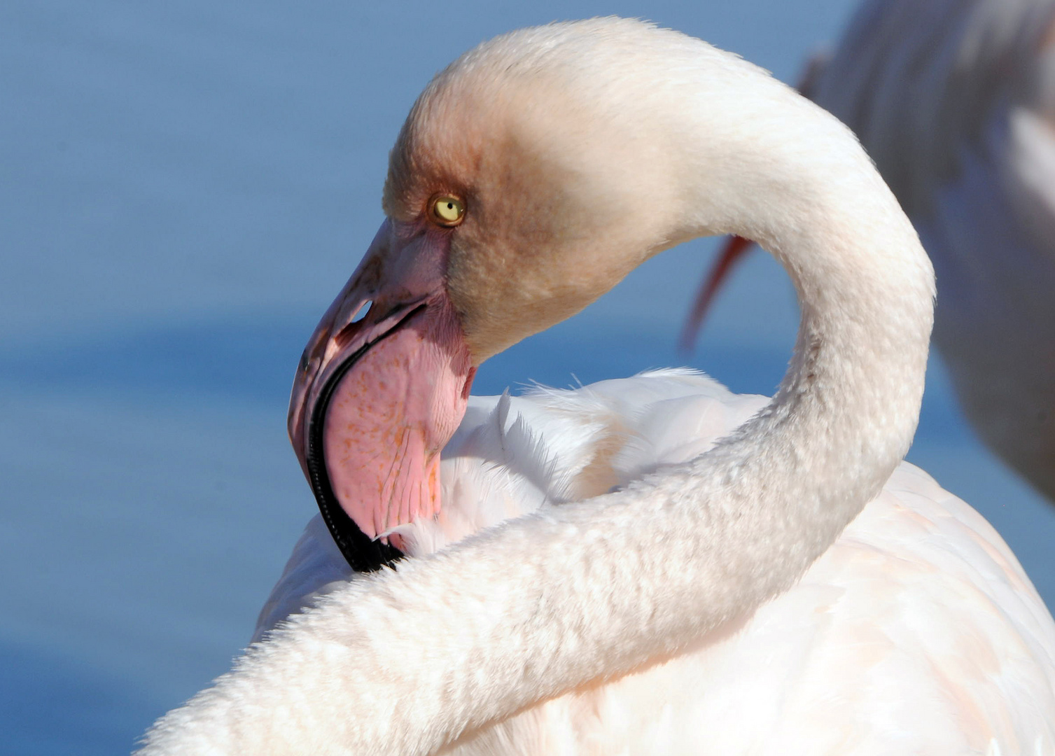
[[440,451],[480,363],[693,235],[676,125],[655,118],[657,98],[676,98],[632,75],[687,38],[652,28],[642,45],[640,22],[595,25],[471,51],[400,132],[386,219],[312,335],[289,413],[353,566],[398,556],[394,528],[439,511]]

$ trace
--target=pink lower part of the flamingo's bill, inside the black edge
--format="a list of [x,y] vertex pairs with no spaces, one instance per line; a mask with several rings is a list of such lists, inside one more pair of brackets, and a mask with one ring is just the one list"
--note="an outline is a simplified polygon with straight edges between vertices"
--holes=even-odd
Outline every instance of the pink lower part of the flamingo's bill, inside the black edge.
[[370,538],[440,510],[440,451],[458,428],[473,373],[445,294],[370,347],[330,398],[326,469],[342,508]]

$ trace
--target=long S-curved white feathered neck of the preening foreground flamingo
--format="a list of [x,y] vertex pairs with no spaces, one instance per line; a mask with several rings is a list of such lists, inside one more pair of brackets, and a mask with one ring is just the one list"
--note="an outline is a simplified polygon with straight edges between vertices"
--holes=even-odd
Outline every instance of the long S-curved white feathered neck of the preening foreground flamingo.
[[737,232],[789,271],[802,324],[773,401],[679,468],[353,581],[162,719],[142,753],[433,753],[749,615],[878,493],[918,418],[929,263],[847,130],[753,66],[722,65],[740,78],[697,96],[730,98],[715,112],[743,120],[685,129],[698,179],[683,178],[670,238]]

